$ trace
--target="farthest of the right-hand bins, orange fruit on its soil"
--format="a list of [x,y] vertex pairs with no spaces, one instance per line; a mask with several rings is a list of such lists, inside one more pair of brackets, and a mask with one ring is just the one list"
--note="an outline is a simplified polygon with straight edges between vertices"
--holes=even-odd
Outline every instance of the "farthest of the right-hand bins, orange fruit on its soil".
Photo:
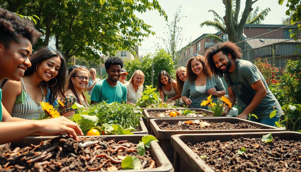
[[[168,110],[173,110],[173,109],[144,109],[143,110],[143,114],[144,114],[144,123],[147,127],[147,130],[148,130],[148,134],[153,134],[151,132],[151,125],[150,125],[150,120],[151,119],[171,119],[171,118],[174,118],[174,117],[158,117],[157,114],[160,114],[160,113],[164,113]],[[183,108],[175,108],[175,110],[179,111],[185,111],[186,109],[183,109]],[[206,116],[204,117],[213,117],[213,112],[210,112],[210,111],[207,111],[205,109],[189,109],[191,111],[197,111],[197,112],[200,112],[200,114],[206,114]],[[177,116],[177,118],[187,118],[187,116]],[[194,118],[194,117],[193,117]]]

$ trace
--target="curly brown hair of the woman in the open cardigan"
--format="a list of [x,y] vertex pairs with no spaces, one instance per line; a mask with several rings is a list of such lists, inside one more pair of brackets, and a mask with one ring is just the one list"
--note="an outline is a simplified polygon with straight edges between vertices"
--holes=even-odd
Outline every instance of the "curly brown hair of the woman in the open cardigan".
[[194,59],[197,59],[198,61],[200,61],[202,63],[204,73],[209,78],[211,78],[212,73],[209,70],[209,67],[208,67],[208,65],[206,63],[205,58],[203,56],[201,56],[201,55],[197,55],[197,56],[189,58],[188,61],[187,61],[187,63],[186,63],[187,78],[189,78],[190,82],[193,82],[194,80],[197,79],[197,74],[193,73],[192,70],[191,70],[191,61],[193,61]]

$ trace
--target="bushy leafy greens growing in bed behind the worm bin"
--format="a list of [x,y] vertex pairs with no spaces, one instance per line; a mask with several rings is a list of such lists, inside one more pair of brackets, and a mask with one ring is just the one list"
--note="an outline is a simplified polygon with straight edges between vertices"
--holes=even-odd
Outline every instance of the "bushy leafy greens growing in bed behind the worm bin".
[[104,134],[132,134],[140,124],[142,109],[134,105],[113,102],[100,102],[85,109],[75,103],[76,114],[70,119],[76,122],[83,133],[96,128]]

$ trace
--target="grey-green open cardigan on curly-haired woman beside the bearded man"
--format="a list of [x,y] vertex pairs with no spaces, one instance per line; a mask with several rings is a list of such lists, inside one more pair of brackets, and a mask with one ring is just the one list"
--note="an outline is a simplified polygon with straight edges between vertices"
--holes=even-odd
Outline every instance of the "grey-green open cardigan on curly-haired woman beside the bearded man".
[[[214,77],[212,76],[211,79],[207,76],[207,83],[206,83],[206,91],[204,93],[198,92],[195,90],[195,81],[192,81],[187,79],[183,86],[183,91],[181,96],[187,96],[191,99],[192,103],[189,105],[190,108],[202,108],[202,109],[208,109],[208,107],[201,107],[201,102],[203,100],[206,100],[209,96],[208,90],[211,88],[215,88],[216,91],[226,91],[223,82],[220,77]],[[213,99],[213,102],[217,102],[218,97],[215,95],[212,95],[211,99]]]

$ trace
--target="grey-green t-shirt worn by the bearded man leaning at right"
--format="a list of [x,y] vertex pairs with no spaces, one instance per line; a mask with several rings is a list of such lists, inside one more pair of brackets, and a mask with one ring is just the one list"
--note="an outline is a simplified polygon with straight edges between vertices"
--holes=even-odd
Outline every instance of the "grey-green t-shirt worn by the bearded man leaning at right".
[[[268,84],[255,64],[246,60],[237,60],[235,70],[233,73],[230,73],[230,77],[234,85],[239,85],[239,83],[242,83],[250,92],[253,92],[254,94],[256,94],[256,91],[251,87],[251,85],[258,80],[262,80],[268,94],[252,111],[252,113],[255,114],[258,119],[269,118],[270,113],[274,111],[274,106],[276,106],[277,110],[279,111],[277,116],[281,116],[283,114],[279,102],[268,88]],[[226,73],[224,74],[224,78],[227,86],[230,87],[230,82]],[[238,98],[238,96],[236,96],[236,98]]]

